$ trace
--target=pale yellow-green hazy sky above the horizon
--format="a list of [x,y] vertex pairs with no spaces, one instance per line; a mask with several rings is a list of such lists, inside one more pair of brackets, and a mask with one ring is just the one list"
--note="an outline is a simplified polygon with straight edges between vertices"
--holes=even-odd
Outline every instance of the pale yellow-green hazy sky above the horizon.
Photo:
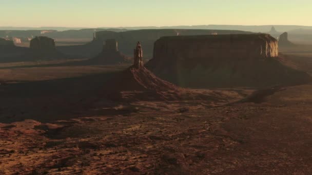
[[312,26],[311,0],[0,0],[0,26]]

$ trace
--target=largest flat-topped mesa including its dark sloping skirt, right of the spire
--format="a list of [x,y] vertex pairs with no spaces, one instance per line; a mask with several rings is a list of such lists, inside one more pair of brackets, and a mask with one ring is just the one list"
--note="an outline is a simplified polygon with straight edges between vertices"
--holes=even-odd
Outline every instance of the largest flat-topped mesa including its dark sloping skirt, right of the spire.
[[271,86],[302,83],[305,73],[278,59],[278,41],[268,34],[162,37],[146,67],[191,88]]

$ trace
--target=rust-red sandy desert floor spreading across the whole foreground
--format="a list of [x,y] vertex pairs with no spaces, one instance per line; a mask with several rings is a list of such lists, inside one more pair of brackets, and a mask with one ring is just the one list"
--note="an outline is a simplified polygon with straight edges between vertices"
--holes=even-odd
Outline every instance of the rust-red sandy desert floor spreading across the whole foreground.
[[[291,64],[309,70],[309,59]],[[118,103],[98,92],[123,68],[0,71],[11,69],[19,83],[0,85],[0,174],[312,173],[311,84]]]

